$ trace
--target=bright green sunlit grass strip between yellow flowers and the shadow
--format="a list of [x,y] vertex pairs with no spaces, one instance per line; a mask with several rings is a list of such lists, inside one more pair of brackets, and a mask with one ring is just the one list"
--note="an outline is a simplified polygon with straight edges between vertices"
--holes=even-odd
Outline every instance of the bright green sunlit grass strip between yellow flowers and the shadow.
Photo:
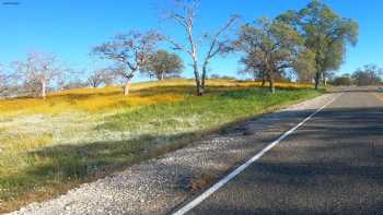
[[205,130],[317,95],[312,89],[282,89],[275,95],[262,88],[236,89],[218,95],[146,106],[106,119],[100,129],[161,134]]

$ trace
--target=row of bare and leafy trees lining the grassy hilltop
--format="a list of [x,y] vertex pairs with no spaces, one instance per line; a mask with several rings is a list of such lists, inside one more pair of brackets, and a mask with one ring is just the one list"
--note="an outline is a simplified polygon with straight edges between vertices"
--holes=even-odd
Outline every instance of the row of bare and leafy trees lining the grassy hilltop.
[[[92,48],[91,56],[106,64],[93,71],[73,71],[65,68],[55,55],[32,52],[8,67],[11,69],[0,71],[0,96],[45,98],[49,91],[116,83],[121,83],[124,95],[128,95],[138,74],[160,81],[179,76],[185,69],[184,60],[190,64],[196,95],[201,96],[206,92],[211,61],[232,52],[240,55],[239,72],[262,81],[263,86],[267,83],[271,93],[276,91],[276,81],[291,80],[291,75],[299,82],[314,83],[318,88],[339,69],[348,45],[355,46],[358,39],[358,24],[318,0],[301,10],[249,23],[241,23],[240,15],[234,14],[216,31],[197,34],[200,3],[175,0],[160,12],[174,28],[179,27],[184,40],[155,29],[118,34]],[[186,58],[183,60],[177,53]]]

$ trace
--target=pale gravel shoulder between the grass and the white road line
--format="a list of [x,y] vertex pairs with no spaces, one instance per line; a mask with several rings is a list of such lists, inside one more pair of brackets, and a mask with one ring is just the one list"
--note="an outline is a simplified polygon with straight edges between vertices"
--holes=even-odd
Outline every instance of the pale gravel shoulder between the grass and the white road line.
[[260,151],[336,94],[249,119],[160,158],[11,214],[166,214]]

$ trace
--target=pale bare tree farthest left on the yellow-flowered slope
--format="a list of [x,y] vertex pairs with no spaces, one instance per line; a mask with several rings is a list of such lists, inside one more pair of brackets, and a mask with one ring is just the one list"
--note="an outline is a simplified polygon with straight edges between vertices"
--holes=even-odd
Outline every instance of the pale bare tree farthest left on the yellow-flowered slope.
[[46,98],[46,91],[50,83],[62,72],[56,56],[42,52],[30,52],[25,61],[16,61],[15,69],[25,79],[33,91],[38,91],[42,98]]

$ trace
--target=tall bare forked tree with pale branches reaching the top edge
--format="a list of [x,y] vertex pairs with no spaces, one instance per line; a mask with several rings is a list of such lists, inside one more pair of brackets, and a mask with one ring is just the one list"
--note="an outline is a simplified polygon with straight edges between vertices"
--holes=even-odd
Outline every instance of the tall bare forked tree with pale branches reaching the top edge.
[[[187,40],[184,43],[175,41],[171,37],[164,37],[165,40],[167,40],[175,50],[181,50],[186,53],[188,53],[192,58],[192,64],[194,70],[194,76],[196,81],[197,86],[197,95],[204,95],[205,93],[205,80],[207,77],[207,71],[208,67],[210,64],[210,61],[213,57],[216,57],[219,53],[225,53],[232,50],[230,46],[229,39],[223,39],[224,33],[234,24],[234,22],[239,19],[237,15],[233,15],[229,19],[229,21],[219,28],[213,34],[205,34],[200,37],[200,39],[197,39],[194,33],[194,26],[195,26],[195,16],[197,14],[198,9],[198,0],[175,0],[174,1],[174,9],[173,10],[166,10],[165,16],[173,20],[176,24],[183,27],[184,33],[186,35]],[[201,43],[206,43],[207,45],[207,52],[205,57],[201,60],[201,64],[199,64],[199,56],[198,51],[200,50],[199,45]],[[201,65],[202,70],[200,71],[199,67]]]

